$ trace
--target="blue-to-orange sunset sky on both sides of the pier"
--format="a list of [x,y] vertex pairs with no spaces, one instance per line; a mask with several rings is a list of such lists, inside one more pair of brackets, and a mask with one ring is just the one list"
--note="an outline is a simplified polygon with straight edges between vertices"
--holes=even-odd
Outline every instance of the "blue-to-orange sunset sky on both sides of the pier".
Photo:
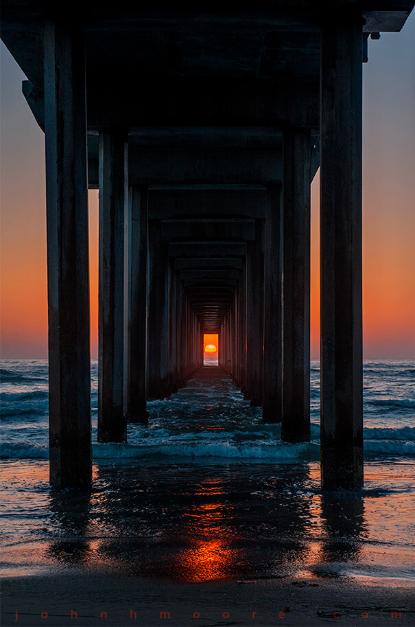
[[[364,65],[364,356],[415,357],[415,12],[369,40]],[[45,139],[0,52],[0,356],[47,357]],[[89,192],[91,355],[97,356],[98,195]],[[319,176],[311,185],[311,356],[319,352]]]

